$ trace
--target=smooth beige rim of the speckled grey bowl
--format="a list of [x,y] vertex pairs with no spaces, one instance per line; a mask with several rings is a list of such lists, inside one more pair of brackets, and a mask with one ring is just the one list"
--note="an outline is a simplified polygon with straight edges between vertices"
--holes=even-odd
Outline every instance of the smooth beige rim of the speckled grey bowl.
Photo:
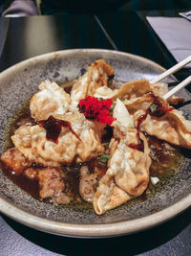
[[[73,50],[63,50],[58,52],[53,52],[41,56],[37,56],[34,58],[29,58],[27,60],[24,60],[22,62],[19,62],[15,64],[14,66],[11,66],[7,70],[0,73],[0,80],[7,76],[10,72],[16,72],[17,69],[20,69],[22,67],[25,67],[26,64],[29,64],[30,62],[36,62],[43,59],[52,59],[56,55],[63,56],[68,54],[74,54],[74,53],[113,53],[117,54],[120,53],[120,55],[123,55],[124,57],[132,57],[137,58],[142,61],[146,61],[156,67],[159,67],[161,70],[165,70],[163,67],[161,67],[156,62],[149,60],[147,58],[138,57],[135,55],[131,55],[128,53],[118,52],[114,50],[104,50],[104,49],[73,49]],[[35,228],[37,230],[41,230],[44,232],[61,235],[61,236],[67,236],[67,237],[75,237],[75,238],[104,238],[104,237],[115,237],[125,234],[132,234],[136,233],[138,231],[142,231],[151,227],[154,227],[156,225],[159,225],[160,223],[164,221],[168,221],[174,217],[176,217],[178,214],[183,212],[185,209],[187,209],[191,205],[191,195],[180,199],[180,201],[176,202],[175,204],[160,210],[157,213],[151,214],[146,217],[138,218],[136,220],[132,221],[119,221],[115,223],[101,223],[101,224],[72,224],[72,223],[64,223],[59,221],[49,221],[43,218],[39,218],[36,216],[33,216],[32,214],[29,214],[26,211],[23,211],[19,209],[18,207],[15,207],[11,205],[10,202],[7,200],[0,198],[0,211],[13,219],[14,221],[21,222],[27,226],[30,226],[32,228]]]

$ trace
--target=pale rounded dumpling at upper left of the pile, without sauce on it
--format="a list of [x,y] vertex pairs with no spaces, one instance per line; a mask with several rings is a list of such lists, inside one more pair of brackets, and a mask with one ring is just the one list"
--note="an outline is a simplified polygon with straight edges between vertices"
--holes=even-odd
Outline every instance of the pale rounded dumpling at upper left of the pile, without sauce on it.
[[43,81],[39,92],[32,96],[30,110],[36,121],[47,119],[53,114],[65,114],[71,104],[71,98],[55,82]]

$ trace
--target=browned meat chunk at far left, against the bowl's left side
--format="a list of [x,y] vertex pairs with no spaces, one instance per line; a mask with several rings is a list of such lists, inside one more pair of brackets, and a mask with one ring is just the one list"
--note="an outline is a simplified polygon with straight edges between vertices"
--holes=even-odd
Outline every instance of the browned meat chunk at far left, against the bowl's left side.
[[1,161],[10,168],[15,175],[20,175],[23,171],[31,166],[31,162],[18,151],[16,148],[11,148],[1,155]]

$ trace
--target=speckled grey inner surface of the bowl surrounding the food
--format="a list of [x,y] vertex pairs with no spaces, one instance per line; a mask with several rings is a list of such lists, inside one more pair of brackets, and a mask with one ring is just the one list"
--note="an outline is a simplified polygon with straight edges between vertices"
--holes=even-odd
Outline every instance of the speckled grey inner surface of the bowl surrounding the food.
[[[37,91],[40,81],[47,79],[71,81],[81,76],[89,63],[97,58],[104,58],[115,69],[116,79],[130,81],[140,78],[153,79],[163,72],[158,64],[145,58],[138,58],[124,53],[107,50],[71,50],[48,54],[23,61],[0,74],[0,152],[6,149],[7,128],[11,118]],[[172,78],[169,81],[174,81]],[[182,90],[180,96],[190,99],[188,92]],[[190,105],[180,109],[190,117]],[[190,156],[184,151],[184,159],[175,175],[166,178],[163,184],[156,186],[155,193],[145,201],[137,198],[97,216],[91,207],[53,206],[33,199],[15,186],[0,171],[0,198],[6,200],[17,210],[23,210],[42,221],[57,221],[61,224],[105,224],[121,221],[134,221],[150,216],[153,211],[161,211],[191,194]],[[2,202],[0,202],[2,203]],[[56,231],[55,231],[56,233]]]

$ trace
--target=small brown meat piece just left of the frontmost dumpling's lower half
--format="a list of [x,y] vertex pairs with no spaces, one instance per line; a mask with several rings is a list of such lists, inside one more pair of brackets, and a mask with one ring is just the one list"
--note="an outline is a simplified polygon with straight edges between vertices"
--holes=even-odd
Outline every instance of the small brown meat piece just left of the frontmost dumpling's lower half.
[[92,202],[98,185],[98,175],[90,174],[87,166],[80,168],[79,194],[85,201]]

